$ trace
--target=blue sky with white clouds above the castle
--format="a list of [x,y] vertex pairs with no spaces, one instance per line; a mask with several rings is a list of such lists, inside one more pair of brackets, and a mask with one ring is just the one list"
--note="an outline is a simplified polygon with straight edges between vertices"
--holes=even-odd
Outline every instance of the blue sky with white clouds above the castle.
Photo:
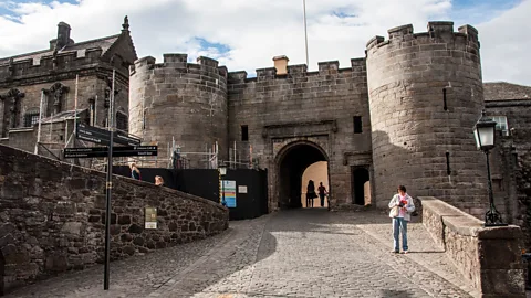
[[[531,85],[531,0],[306,0],[309,70],[317,62],[365,55],[374,35],[428,21],[479,30],[483,82]],[[138,57],[187,53],[216,58],[230,72],[272,67],[272,57],[305,64],[303,0],[0,0],[0,57],[44,50],[61,21],[74,41],[121,32],[128,15]]]

